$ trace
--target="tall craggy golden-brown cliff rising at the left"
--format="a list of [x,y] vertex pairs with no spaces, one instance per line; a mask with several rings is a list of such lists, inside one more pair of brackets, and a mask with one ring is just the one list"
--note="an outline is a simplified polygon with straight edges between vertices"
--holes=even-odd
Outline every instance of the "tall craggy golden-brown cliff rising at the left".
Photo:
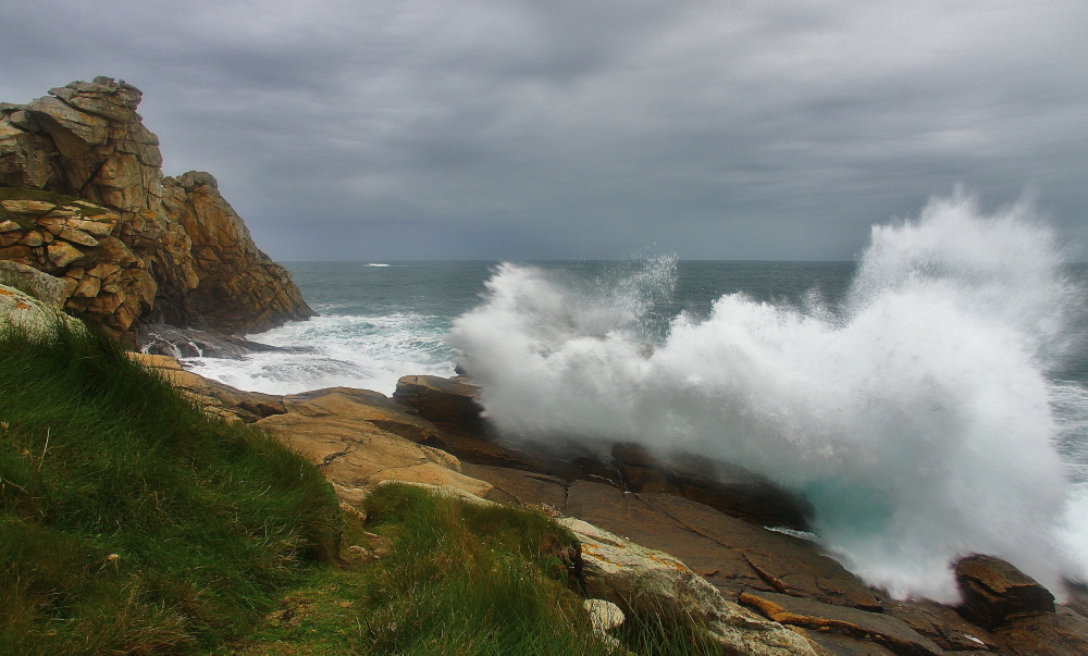
[[124,81],[0,103],[0,260],[67,281],[65,309],[133,337],[138,321],[257,332],[313,312],[208,173],[163,177]]

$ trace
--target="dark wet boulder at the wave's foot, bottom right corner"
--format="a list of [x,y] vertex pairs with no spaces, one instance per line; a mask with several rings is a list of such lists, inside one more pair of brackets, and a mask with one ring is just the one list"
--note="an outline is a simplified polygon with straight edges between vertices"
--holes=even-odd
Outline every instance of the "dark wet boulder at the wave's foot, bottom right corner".
[[955,575],[963,593],[960,612],[986,629],[1018,617],[1054,612],[1054,595],[1000,558],[968,556],[955,564]]

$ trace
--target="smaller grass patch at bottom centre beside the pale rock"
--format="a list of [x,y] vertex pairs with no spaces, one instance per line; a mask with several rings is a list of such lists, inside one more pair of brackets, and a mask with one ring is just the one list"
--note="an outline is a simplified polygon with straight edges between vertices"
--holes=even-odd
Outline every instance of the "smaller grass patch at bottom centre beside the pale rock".
[[316,571],[223,654],[719,653],[688,618],[648,606],[614,631],[621,645],[594,635],[577,592],[577,540],[540,512],[396,484],[379,487],[363,510],[364,522],[345,518],[347,564]]

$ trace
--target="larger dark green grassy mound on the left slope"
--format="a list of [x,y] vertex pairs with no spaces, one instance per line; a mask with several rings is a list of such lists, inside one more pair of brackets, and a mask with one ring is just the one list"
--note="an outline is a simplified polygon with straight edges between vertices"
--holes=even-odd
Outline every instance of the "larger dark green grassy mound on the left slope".
[[334,557],[339,521],[317,469],[112,339],[0,334],[0,654],[214,647]]

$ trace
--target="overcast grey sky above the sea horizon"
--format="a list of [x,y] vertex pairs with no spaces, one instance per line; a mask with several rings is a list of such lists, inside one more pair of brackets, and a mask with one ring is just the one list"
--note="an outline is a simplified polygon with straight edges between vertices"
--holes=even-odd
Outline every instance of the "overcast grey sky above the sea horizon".
[[957,184],[1088,245],[1084,0],[3,0],[274,259],[849,260]]

